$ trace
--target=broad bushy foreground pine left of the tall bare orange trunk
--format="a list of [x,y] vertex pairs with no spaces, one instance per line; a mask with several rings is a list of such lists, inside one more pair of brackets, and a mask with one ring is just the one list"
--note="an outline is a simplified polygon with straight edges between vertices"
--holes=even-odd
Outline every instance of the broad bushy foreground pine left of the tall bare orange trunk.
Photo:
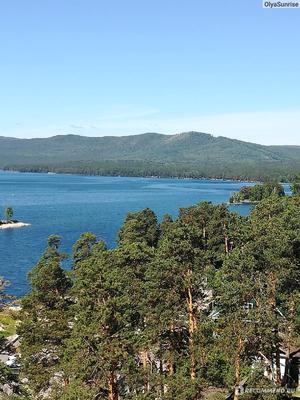
[[98,242],[90,256],[76,264],[72,291],[76,318],[65,358],[70,384],[60,398],[69,399],[70,391],[79,388],[108,400],[133,387],[138,390],[136,357],[143,295],[139,274],[143,275],[147,251],[152,252],[144,246],[126,243],[107,250]]

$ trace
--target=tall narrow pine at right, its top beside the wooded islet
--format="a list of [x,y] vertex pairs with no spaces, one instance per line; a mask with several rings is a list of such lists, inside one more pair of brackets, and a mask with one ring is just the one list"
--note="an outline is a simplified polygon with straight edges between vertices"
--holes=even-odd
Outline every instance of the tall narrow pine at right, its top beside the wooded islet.
[[281,288],[294,266],[291,262],[290,240],[283,226],[282,214],[288,199],[270,197],[261,202],[251,215],[250,223],[253,240],[250,251],[257,263],[257,277],[261,285],[262,353],[274,360],[273,373],[276,383],[281,383],[280,349],[282,347],[281,332],[285,318],[280,299]]

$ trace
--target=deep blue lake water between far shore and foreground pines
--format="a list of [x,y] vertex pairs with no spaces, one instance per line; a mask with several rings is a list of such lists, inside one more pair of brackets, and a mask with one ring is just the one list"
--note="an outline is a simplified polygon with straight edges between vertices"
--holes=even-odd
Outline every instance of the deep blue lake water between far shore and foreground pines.
[[[109,247],[126,214],[149,207],[161,219],[201,201],[225,203],[245,183],[234,181],[94,177],[0,172],[0,213],[12,206],[14,218],[29,227],[0,230],[0,277],[16,296],[28,288],[26,275],[39,259],[47,237],[58,234],[70,252],[82,232],[94,232]],[[233,206],[241,214],[249,206]],[[0,216],[1,218],[1,216]]]

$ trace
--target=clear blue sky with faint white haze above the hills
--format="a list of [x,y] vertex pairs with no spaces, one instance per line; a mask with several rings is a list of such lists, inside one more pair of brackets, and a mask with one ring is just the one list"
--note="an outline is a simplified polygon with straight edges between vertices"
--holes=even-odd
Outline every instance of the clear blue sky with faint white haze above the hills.
[[0,136],[300,145],[300,8],[262,3],[0,1]]

